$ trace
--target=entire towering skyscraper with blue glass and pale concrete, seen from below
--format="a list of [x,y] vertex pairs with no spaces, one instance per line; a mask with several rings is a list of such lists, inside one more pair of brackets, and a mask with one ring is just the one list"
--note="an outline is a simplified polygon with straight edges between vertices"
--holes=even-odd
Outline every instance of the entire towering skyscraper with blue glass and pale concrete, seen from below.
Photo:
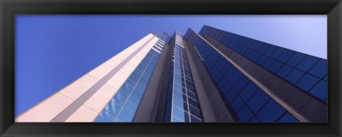
[[203,26],[152,32],[16,118],[326,122],[327,60]]

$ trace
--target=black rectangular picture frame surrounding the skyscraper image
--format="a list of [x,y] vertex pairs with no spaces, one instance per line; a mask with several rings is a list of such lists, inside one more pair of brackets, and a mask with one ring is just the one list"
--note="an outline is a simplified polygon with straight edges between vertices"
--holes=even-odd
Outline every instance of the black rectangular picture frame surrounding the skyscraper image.
[[[14,123],[16,14],[328,15],[328,123]],[[0,136],[342,136],[340,0],[0,0]]]

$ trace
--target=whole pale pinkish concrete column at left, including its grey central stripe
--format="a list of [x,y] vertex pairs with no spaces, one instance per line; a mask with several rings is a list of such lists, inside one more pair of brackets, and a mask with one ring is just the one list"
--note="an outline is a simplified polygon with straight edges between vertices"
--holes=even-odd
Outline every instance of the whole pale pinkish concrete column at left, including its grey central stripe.
[[[92,121],[157,41],[152,34],[16,118],[16,122]],[[152,43],[149,44],[149,43]],[[141,51],[140,51],[141,50]],[[133,60],[132,60],[133,59]],[[120,77],[120,80],[118,80]],[[121,83],[120,83],[121,82]]]

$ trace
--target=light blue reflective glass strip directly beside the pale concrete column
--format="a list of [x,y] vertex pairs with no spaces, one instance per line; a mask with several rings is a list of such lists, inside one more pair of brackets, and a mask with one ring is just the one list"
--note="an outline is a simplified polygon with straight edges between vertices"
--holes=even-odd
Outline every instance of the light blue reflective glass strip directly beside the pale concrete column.
[[138,108],[146,105],[146,102],[141,102],[141,100],[145,97],[145,89],[150,83],[150,77],[155,70],[164,45],[165,42],[156,38],[152,46],[146,48],[147,55],[138,64],[138,67],[128,75],[128,80],[124,81],[123,86],[118,88],[118,93],[100,111],[100,114],[94,120],[95,122],[133,121]]

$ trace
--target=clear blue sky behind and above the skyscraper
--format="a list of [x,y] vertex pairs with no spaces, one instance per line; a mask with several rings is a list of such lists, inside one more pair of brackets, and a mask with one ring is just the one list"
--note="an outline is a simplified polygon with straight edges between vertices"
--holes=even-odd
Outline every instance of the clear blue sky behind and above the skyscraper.
[[152,31],[203,25],[326,58],[326,16],[16,16],[15,115]]

